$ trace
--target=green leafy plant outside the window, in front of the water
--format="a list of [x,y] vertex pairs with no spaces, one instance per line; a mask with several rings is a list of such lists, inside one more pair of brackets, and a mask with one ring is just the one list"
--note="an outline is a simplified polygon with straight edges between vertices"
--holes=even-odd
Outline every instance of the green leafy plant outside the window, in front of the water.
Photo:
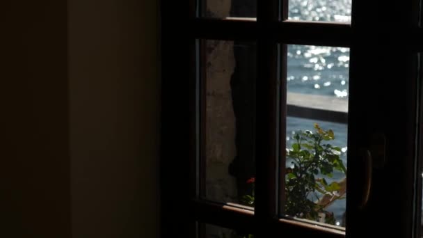
[[[335,139],[333,131],[317,124],[314,129],[296,132],[295,143],[287,149],[291,166],[285,171],[285,214],[335,224],[333,213],[326,207],[345,198],[346,179],[330,183],[327,179],[335,171],[345,175],[346,168],[340,158],[341,148],[328,143]],[[254,180],[251,184],[254,186]],[[243,198],[246,205],[254,205],[254,194]]]

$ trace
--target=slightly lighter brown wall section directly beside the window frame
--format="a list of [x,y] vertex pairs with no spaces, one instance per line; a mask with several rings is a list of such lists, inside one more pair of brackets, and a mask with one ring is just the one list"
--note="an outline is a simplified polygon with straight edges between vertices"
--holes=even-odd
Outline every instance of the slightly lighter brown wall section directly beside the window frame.
[[69,2],[73,237],[157,237],[157,3]]

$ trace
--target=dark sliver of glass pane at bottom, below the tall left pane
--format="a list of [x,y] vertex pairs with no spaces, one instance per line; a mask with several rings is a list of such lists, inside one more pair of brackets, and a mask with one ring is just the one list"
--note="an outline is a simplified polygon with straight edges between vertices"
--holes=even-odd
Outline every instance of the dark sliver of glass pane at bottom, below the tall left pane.
[[254,236],[217,225],[201,223],[198,238],[254,238]]

